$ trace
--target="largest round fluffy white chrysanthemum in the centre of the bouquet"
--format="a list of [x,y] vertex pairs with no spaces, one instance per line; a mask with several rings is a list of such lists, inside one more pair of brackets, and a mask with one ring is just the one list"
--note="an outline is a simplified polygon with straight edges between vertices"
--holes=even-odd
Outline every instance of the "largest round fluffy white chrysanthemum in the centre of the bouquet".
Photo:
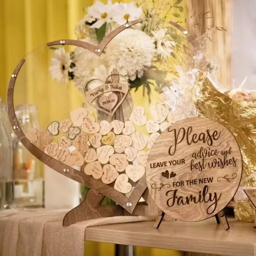
[[106,60],[108,66],[116,65],[118,73],[133,81],[151,66],[154,54],[154,39],[143,31],[128,28],[108,44]]

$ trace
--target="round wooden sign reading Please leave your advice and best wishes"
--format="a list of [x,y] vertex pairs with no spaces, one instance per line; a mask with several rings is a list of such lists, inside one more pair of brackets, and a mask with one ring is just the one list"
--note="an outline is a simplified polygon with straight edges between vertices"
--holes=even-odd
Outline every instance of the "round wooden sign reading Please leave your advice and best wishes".
[[235,195],[242,156],[236,139],[222,124],[187,118],[157,138],[146,175],[149,192],[163,212],[178,220],[205,220]]

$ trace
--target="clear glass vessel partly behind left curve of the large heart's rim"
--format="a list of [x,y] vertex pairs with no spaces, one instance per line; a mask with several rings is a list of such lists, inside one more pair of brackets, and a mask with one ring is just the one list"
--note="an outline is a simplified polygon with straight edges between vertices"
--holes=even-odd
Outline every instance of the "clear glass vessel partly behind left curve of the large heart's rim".
[[[24,133],[39,127],[35,105],[18,105],[15,114]],[[43,164],[17,139],[14,141],[14,203],[17,207],[44,206]]]

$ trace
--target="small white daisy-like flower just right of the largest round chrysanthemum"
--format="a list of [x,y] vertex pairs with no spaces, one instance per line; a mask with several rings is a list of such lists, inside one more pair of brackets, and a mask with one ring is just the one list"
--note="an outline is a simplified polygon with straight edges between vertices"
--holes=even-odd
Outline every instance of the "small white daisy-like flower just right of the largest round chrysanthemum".
[[174,41],[170,41],[169,36],[166,35],[167,29],[160,28],[157,31],[152,31],[156,42],[156,53],[161,55],[163,58],[170,57],[171,53],[174,52],[172,46],[175,45]]

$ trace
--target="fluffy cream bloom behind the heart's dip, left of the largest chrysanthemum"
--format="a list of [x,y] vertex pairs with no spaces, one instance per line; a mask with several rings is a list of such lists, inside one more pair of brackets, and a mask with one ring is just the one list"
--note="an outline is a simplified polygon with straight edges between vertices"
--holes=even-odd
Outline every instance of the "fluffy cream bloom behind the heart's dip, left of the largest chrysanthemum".
[[[82,41],[95,44],[94,40],[87,37]],[[76,66],[72,69],[74,73],[74,84],[79,91],[83,91],[84,85],[92,79],[95,68],[105,64],[104,54],[100,57],[95,53],[84,49],[82,47],[76,47],[74,51],[74,58]]]

